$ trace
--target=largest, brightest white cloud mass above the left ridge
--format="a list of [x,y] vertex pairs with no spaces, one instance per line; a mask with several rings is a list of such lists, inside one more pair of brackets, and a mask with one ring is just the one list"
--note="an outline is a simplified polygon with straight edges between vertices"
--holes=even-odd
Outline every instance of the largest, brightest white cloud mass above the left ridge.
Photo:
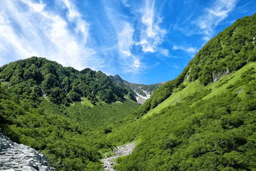
[[56,12],[47,11],[46,4],[33,0],[20,2],[3,0],[0,4],[0,53],[5,59],[3,62],[40,56],[79,70],[85,66],[100,67],[102,60],[86,46],[89,25],[82,20],[71,1],[64,0],[69,19],[73,20],[79,33],[71,31],[68,21]]

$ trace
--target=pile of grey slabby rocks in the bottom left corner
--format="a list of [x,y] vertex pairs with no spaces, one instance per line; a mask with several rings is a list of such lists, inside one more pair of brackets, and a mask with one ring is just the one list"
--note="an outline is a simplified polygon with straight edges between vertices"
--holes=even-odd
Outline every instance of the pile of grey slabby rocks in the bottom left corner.
[[0,171],[55,171],[55,168],[48,165],[43,154],[0,133]]

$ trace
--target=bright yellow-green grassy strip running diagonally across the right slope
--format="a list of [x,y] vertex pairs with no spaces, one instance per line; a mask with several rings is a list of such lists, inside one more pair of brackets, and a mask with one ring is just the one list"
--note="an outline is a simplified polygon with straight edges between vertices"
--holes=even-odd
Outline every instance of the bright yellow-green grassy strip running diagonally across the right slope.
[[[246,71],[250,67],[255,67],[255,66],[256,66],[256,62],[251,62],[251,63],[247,64],[246,66],[244,66],[243,68],[241,68],[240,70],[238,70],[230,75],[226,75],[223,78],[221,78],[220,80],[216,81],[215,83],[209,84],[207,86],[201,85],[198,80],[193,81],[193,82],[186,81],[186,82],[184,82],[186,87],[183,90],[173,93],[168,99],[163,101],[157,107],[148,111],[148,113],[145,114],[142,118],[145,119],[148,116],[152,116],[153,113],[159,113],[161,110],[168,107],[169,105],[175,104],[176,102],[184,99],[184,97],[186,97],[192,93],[195,93],[198,90],[211,89],[211,93],[209,93],[203,99],[209,99],[213,96],[217,96],[217,95],[223,93],[228,86],[230,86],[231,84],[234,84],[240,78],[241,74],[244,71]],[[240,90],[240,89],[242,89],[242,87],[238,88],[238,90]],[[243,94],[243,92],[240,94],[240,96],[242,94]]]

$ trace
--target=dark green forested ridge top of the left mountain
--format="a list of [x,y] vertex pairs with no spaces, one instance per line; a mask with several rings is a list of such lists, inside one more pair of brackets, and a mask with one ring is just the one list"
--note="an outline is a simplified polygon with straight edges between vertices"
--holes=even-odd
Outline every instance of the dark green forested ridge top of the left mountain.
[[89,68],[78,71],[45,58],[32,57],[0,67],[0,81],[6,82],[12,96],[44,96],[55,104],[69,105],[87,97],[110,103],[121,100],[128,90],[114,84],[104,73]]

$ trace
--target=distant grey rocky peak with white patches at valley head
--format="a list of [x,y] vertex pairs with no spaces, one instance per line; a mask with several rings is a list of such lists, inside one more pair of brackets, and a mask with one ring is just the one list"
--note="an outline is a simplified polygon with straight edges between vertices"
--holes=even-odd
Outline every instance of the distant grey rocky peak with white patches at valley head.
[[143,104],[152,95],[154,90],[164,84],[164,82],[151,85],[129,83],[123,80],[119,75],[110,75],[109,78],[117,85],[131,89],[131,93],[136,97],[137,103],[139,104]]

